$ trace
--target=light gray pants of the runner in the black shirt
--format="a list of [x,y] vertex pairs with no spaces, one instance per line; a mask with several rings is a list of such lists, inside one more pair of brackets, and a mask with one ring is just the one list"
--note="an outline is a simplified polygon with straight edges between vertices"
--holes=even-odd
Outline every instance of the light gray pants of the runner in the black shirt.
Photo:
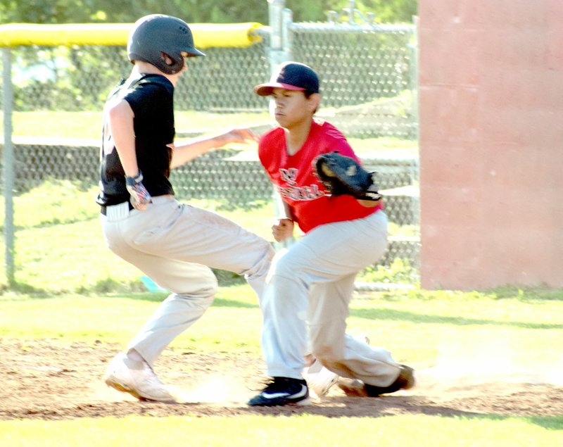
[[127,345],[151,366],[213,303],[210,267],[243,275],[261,299],[274,249],[220,215],[157,196],[144,211],[108,206],[101,226],[113,253],[171,292]]

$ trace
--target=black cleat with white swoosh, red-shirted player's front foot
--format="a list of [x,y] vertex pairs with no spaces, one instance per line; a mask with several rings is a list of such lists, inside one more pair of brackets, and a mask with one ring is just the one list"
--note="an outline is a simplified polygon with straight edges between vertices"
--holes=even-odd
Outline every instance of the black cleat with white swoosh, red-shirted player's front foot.
[[306,405],[309,403],[309,389],[303,379],[291,377],[272,377],[272,382],[267,384],[260,394],[251,398],[248,405],[273,407],[296,403]]

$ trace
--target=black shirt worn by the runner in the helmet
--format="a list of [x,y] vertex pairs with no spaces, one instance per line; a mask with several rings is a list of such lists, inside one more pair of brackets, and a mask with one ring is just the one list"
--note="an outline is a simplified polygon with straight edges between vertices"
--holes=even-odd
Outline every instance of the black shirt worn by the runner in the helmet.
[[[141,75],[122,80],[109,94],[106,105],[125,99],[134,113],[137,165],[143,173],[143,184],[151,196],[174,194],[170,177],[174,141],[174,86],[162,75]],[[103,114],[103,139],[100,150],[100,192],[96,203],[103,206],[129,201],[125,188],[125,171],[118,151],[108,132],[108,116]]]

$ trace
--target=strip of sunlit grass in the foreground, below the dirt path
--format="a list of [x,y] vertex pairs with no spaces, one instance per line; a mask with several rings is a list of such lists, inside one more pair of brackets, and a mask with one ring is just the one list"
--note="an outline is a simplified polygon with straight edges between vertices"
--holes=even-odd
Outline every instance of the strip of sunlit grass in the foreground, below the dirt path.
[[[124,417],[0,422],[11,447],[98,446],[557,446],[562,418],[549,417]],[[4,443],[3,443],[4,442]]]

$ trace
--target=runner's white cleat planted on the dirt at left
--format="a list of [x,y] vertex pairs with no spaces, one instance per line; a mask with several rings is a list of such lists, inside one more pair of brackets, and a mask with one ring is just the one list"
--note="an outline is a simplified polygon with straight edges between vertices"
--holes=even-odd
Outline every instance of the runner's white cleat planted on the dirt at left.
[[176,401],[172,390],[160,382],[146,362],[131,360],[124,353],[118,353],[111,360],[104,379],[106,385],[141,401]]

